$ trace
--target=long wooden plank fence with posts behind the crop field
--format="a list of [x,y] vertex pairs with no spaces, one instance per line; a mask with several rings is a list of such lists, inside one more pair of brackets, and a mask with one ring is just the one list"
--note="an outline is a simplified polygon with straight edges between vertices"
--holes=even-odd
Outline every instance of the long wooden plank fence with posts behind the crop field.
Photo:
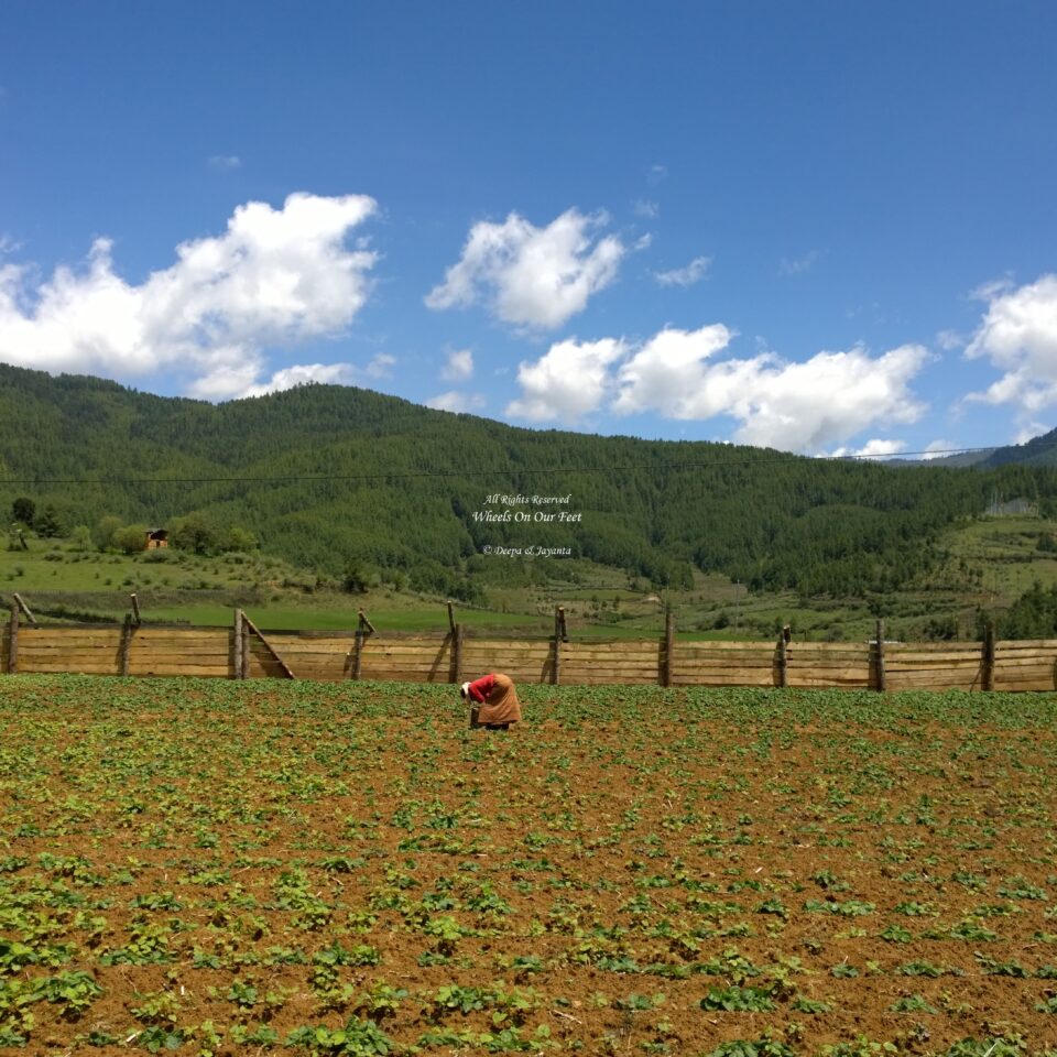
[[677,641],[671,617],[657,639],[570,642],[564,614],[553,636],[512,641],[467,635],[454,620],[445,633],[379,633],[362,614],[356,631],[264,635],[240,610],[231,628],[144,626],[131,614],[123,625],[45,626],[13,607],[0,655],[7,673],[459,683],[505,672],[563,685],[1057,689],[1057,640],[886,642],[883,622],[863,643]]

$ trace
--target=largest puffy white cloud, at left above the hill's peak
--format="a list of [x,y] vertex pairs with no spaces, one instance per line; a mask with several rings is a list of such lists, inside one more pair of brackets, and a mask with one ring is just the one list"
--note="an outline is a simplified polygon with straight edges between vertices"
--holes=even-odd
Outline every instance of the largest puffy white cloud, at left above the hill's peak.
[[339,335],[366,303],[375,254],[346,239],[374,210],[362,195],[251,201],[224,235],[182,243],[140,285],[117,273],[105,238],[85,266],[41,283],[0,264],[0,360],[122,380],[176,368],[195,375],[192,393],[216,400],[271,385],[279,375],[260,380],[268,347]]

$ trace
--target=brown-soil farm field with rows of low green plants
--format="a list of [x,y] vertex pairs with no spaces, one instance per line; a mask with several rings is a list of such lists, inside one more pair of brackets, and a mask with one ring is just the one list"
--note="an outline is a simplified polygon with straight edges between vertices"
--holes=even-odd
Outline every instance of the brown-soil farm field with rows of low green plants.
[[0,1049],[1057,1054],[1057,696],[0,680]]

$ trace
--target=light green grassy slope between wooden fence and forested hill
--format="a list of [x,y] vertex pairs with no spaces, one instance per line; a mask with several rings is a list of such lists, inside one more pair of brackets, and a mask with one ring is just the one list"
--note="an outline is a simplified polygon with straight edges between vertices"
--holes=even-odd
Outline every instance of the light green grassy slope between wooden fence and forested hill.
[[[791,622],[802,638],[856,641],[869,638],[880,606],[894,638],[922,639],[930,621],[945,617],[969,638],[978,607],[1001,611],[1035,580],[1057,584],[1057,554],[1038,549],[1045,533],[1057,533],[1057,523],[1032,516],[969,522],[945,537],[950,557],[930,584],[875,600],[873,608],[865,599],[749,596],[721,576],[699,576],[693,590],[662,597],[622,573],[576,563],[579,582],[495,588],[488,609],[459,606],[458,619],[472,631],[549,634],[554,607],[562,604],[574,635],[646,638],[662,633],[671,604],[683,638],[769,639]],[[0,551],[0,593],[9,601],[18,591],[31,608],[64,604],[117,621],[135,591],[151,620],[222,625],[241,606],[263,628],[350,630],[362,608],[380,630],[447,626],[443,598],[383,585],[364,596],[347,595],[263,555],[199,558],[168,551],[128,557],[35,538],[30,547]]]

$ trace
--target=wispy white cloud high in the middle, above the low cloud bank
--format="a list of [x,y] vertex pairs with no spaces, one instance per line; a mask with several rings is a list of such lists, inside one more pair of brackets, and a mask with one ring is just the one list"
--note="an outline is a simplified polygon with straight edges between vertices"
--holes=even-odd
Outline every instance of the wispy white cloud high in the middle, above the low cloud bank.
[[569,209],[545,228],[512,213],[503,224],[473,225],[457,264],[426,297],[431,308],[473,304],[487,291],[489,309],[504,323],[553,329],[582,312],[592,294],[617,276],[623,243],[593,240],[604,214]]

